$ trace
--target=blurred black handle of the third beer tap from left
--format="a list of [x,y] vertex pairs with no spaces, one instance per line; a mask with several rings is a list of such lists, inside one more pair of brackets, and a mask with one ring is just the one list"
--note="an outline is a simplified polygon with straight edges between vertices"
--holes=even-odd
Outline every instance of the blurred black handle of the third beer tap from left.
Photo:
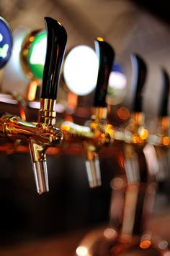
[[143,104],[143,87],[146,82],[147,67],[143,59],[137,54],[131,54],[131,61],[133,67],[133,112],[141,112]]

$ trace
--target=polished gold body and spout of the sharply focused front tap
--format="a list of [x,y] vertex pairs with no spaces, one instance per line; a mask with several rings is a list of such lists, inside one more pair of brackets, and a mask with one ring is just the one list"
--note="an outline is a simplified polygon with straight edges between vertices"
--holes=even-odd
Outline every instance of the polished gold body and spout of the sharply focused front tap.
[[48,191],[46,150],[60,145],[63,140],[61,129],[55,127],[55,100],[41,99],[37,122],[22,121],[19,116],[3,115],[0,118],[0,137],[10,140],[27,140],[32,158],[37,192]]

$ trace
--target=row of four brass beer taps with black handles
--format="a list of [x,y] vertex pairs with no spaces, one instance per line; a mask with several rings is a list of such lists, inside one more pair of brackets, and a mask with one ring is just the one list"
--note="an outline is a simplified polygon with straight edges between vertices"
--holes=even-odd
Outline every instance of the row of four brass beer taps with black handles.
[[[170,143],[168,134],[169,116],[167,113],[169,76],[166,70],[162,71],[164,92],[161,98],[160,124],[158,125],[157,135],[149,135],[148,129],[145,127],[142,103],[147,67],[138,54],[131,55],[133,88],[135,88],[132,114],[128,124],[124,124],[123,127],[115,127],[114,124],[107,121],[107,103],[105,101],[109,73],[115,59],[115,52],[112,46],[103,38],[97,38],[94,40],[94,44],[99,58],[99,72],[89,126],[81,126],[66,120],[58,127],[55,105],[58,81],[66,50],[67,34],[61,23],[50,17],[45,18],[45,24],[48,44],[37,122],[26,121],[27,107],[18,95],[12,95],[12,97],[17,98],[20,117],[13,114],[3,114],[0,119],[1,138],[8,138],[12,142],[11,145],[8,144],[12,147],[8,152],[17,152],[17,147],[21,144],[21,141],[28,141],[37,192],[48,191],[45,152],[48,148],[56,145],[61,144],[62,147],[62,140],[69,143],[82,142],[90,187],[101,184],[98,153],[102,147],[107,146],[109,148],[111,145],[114,146],[115,143],[120,143],[125,155],[125,168],[130,165],[128,159],[134,158],[134,154],[138,150],[143,150],[146,144],[154,145],[159,158],[160,151],[169,148]],[[4,141],[1,140],[1,151],[4,150],[3,145]]]

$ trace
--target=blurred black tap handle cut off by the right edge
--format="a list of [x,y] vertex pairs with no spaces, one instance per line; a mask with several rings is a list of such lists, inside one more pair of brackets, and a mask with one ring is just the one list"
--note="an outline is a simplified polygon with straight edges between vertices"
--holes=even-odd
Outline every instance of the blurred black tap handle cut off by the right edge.
[[169,89],[170,89],[170,81],[169,74],[165,69],[161,70],[162,72],[162,95],[161,102],[159,107],[158,116],[168,116],[168,104],[169,104]]

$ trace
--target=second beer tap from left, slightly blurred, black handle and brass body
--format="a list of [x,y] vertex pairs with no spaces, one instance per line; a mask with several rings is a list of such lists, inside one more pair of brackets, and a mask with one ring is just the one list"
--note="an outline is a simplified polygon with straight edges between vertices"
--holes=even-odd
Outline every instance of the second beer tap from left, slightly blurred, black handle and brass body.
[[81,140],[82,142],[90,187],[97,187],[101,184],[98,151],[102,145],[109,144],[111,140],[109,132],[112,133],[112,126],[107,124],[107,105],[105,98],[109,73],[115,57],[112,46],[104,41],[103,38],[98,37],[94,40],[94,44],[99,58],[99,70],[94,95],[93,114],[89,127],[78,126],[69,121],[64,121],[61,126],[64,135],[63,140]]

